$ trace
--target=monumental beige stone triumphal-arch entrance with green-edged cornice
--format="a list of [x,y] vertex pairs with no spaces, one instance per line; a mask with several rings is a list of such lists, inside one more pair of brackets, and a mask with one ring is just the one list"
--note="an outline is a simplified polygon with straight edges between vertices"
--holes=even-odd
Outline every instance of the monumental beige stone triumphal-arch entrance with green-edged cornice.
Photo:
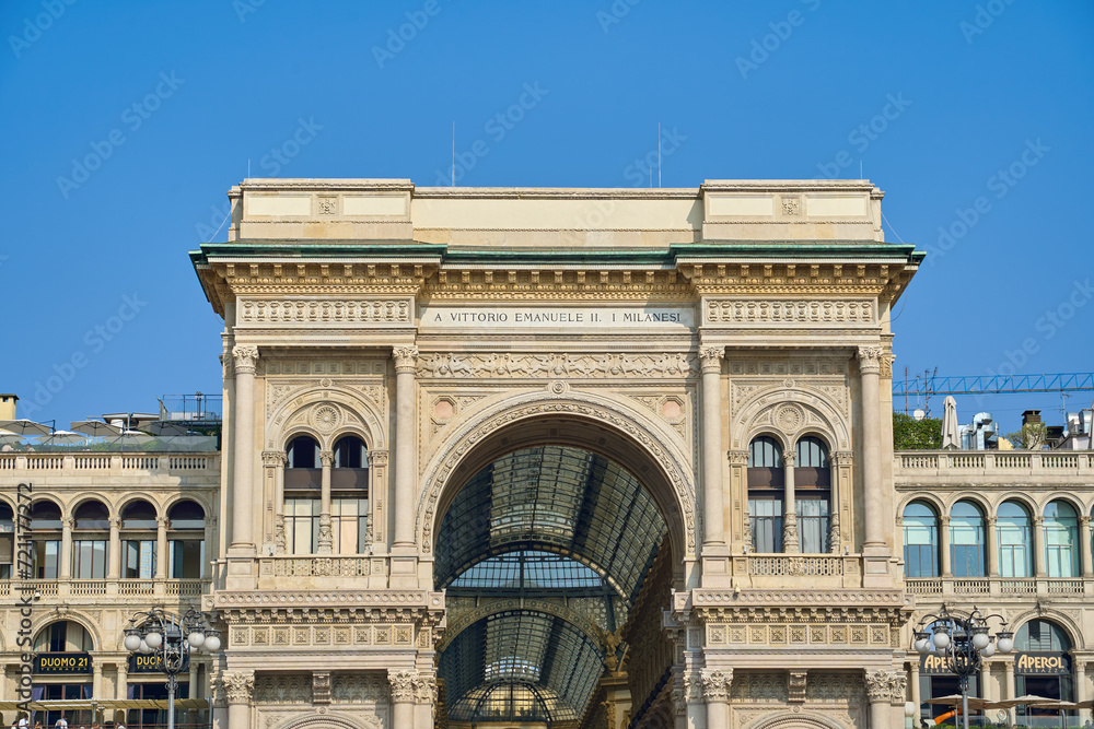
[[219,729],[899,719],[881,190],[229,197]]

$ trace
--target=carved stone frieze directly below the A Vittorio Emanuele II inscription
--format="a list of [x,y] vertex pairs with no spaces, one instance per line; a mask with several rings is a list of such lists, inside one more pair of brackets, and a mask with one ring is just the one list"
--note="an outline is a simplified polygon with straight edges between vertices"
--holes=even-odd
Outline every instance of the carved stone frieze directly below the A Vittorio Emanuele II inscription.
[[437,378],[616,378],[690,377],[697,358],[684,352],[566,354],[477,354],[434,352],[418,361],[419,377]]

